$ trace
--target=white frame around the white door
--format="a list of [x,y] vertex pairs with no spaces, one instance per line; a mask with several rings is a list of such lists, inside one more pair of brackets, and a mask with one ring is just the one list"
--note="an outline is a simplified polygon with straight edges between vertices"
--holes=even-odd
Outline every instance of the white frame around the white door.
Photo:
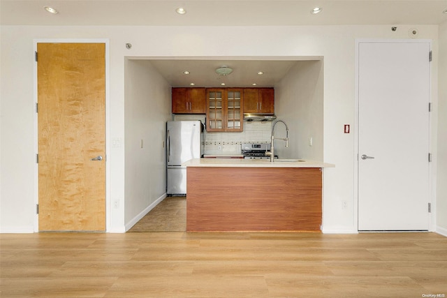
[[[427,39],[369,39],[369,38],[359,38],[356,39],[356,61],[355,61],[355,104],[354,104],[354,109],[355,109],[355,117],[354,117],[354,156],[353,156],[353,160],[354,160],[354,204],[353,204],[353,210],[354,210],[354,216],[353,216],[353,220],[354,220],[354,229],[356,231],[358,231],[358,123],[359,123],[359,105],[358,105],[358,101],[359,101],[359,88],[358,88],[358,74],[359,74],[359,47],[360,47],[360,43],[430,43],[430,48],[432,48],[432,40],[427,40]],[[428,57],[427,57],[428,59]],[[433,103],[433,92],[432,92],[432,87],[433,83],[432,83],[432,64],[430,64],[430,103]],[[427,107],[428,110],[428,107]],[[436,142],[433,142],[433,138],[434,133],[432,131],[432,121],[433,118],[432,117],[432,113],[430,113],[429,115],[430,119],[429,119],[429,130],[430,130],[430,135],[429,135],[429,140],[430,140],[430,144],[429,144],[429,148],[430,148],[430,152],[433,153],[433,147],[436,147]],[[427,156],[428,158],[428,156]],[[434,171],[436,170],[436,163],[435,163],[436,158],[433,157],[432,159],[432,163],[429,164],[429,191],[430,191],[430,197],[429,200],[431,202],[431,206],[432,206],[432,210],[431,210],[431,214],[429,215],[429,223],[428,223],[428,230],[429,232],[432,232],[434,230],[436,230],[435,227],[435,223],[436,223],[436,181],[435,179],[433,179],[433,177],[436,177],[436,174],[434,173]]]

